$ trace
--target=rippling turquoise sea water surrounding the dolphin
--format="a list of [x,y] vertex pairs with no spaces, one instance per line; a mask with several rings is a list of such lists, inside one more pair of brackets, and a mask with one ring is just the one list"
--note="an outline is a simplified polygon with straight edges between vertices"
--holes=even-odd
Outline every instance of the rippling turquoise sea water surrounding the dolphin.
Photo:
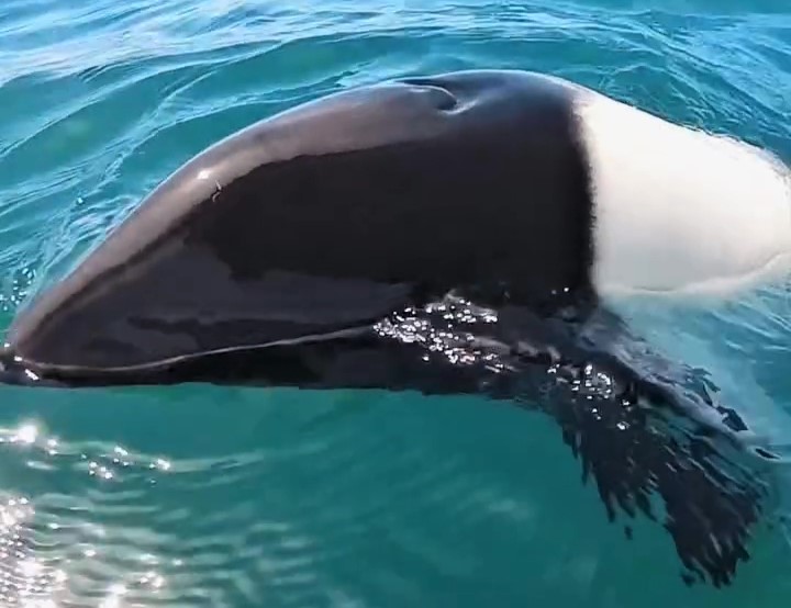
[[[550,71],[791,160],[782,0],[10,0],[0,7],[0,325],[159,180],[341,88]],[[748,203],[748,202],[746,202]],[[705,226],[701,226],[704,230]],[[791,306],[635,306],[783,459]],[[610,523],[548,419],[475,398],[178,386],[0,390],[3,606],[787,606],[762,526],[731,587]]]

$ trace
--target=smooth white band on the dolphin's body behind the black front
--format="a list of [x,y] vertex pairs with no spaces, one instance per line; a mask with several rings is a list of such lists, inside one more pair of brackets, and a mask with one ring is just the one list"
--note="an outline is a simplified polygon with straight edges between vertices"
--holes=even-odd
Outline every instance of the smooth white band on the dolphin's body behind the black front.
[[615,294],[727,295],[791,270],[791,172],[769,153],[577,88],[593,280]]

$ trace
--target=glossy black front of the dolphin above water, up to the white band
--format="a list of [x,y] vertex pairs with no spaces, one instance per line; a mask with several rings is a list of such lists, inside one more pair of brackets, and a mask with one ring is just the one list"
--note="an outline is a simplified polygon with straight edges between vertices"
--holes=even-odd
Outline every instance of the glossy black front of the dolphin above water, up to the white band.
[[470,72],[265,121],[163,183],[8,341],[40,375],[104,373],[369,327],[450,290],[552,311],[590,292],[569,103]]

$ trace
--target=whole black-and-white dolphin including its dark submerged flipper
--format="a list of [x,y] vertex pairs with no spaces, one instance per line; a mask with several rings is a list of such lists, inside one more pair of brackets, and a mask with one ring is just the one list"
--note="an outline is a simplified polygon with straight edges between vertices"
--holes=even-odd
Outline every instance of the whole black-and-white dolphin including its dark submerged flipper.
[[609,299],[781,277],[790,210],[769,155],[557,78],[383,82],[192,158],[19,315],[2,376],[478,394],[542,412],[611,519],[661,519],[684,579],[720,586],[748,558],[773,455]]

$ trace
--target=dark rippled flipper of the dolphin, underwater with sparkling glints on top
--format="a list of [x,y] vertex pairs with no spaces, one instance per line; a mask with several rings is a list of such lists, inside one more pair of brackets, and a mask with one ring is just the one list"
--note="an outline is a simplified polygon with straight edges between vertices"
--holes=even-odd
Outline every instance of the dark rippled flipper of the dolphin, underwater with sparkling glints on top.
[[[530,341],[510,339],[527,327]],[[749,559],[769,494],[756,473],[777,457],[760,447],[745,451],[739,434],[747,426],[716,402],[708,375],[653,353],[617,317],[601,312],[568,328],[453,296],[377,326],[380,336],[424,350],[435,373],[447,363],[459,390],[552,416],[611,520],[660,520],[686,583],[729,584]],[[447,390],[450,380],[437,378]]]

